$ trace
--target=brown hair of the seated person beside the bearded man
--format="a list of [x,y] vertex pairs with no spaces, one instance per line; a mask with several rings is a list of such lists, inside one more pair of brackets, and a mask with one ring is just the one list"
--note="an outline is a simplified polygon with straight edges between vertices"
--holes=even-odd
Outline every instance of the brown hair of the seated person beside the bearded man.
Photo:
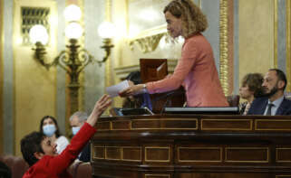
[[248,73],[242,80],[242,86],[248,87],[250,91],[254,92],[254,97],[261,97],[264,94],[262,87],[264,77],[261,73]]

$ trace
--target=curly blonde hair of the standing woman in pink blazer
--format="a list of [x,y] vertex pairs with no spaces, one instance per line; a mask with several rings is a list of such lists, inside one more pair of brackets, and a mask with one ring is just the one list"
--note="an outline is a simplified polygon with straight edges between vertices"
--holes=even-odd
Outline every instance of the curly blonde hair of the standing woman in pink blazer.
[[182,36],[187,38],[192,34],[204,32],[208,27],[206,15],[191,0],[173,0],[165,6],[166,12],[182,20]]

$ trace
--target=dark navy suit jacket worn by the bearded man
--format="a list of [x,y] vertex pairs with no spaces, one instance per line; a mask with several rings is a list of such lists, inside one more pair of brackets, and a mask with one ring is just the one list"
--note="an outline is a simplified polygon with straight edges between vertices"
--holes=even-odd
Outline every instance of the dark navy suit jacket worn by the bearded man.
[[[256,98],[250,106],[247,115],[264,115],[267,107],[267,97]],[[283,99],[281,105],[276,110],[277,115],[291,115],[291,100]]]

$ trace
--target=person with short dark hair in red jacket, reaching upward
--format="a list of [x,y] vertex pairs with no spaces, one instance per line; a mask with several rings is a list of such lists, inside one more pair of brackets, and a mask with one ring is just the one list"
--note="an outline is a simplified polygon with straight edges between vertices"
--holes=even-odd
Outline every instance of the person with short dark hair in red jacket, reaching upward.
[[111,105],[108,95],[100,98],[86,123],[73,136],[71,144],[63,150],[61,155],[56,154],[56,145],[44,134],[33,132],[21,140],[21,152],[30,168],[24,173],[26,177],[72,177],[67,168],[82,151],[82,147],[96,132],[95,126],[103,111]]

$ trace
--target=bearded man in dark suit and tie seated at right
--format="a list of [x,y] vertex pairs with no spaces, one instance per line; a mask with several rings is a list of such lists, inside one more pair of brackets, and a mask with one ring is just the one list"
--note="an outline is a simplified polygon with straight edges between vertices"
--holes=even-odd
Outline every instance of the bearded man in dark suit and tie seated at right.
[[282,70],[268,70],[262,84],[266,95],[253,101],[247,115],[291,115],[291,100],[284,97],[286,85],[286,75]]

